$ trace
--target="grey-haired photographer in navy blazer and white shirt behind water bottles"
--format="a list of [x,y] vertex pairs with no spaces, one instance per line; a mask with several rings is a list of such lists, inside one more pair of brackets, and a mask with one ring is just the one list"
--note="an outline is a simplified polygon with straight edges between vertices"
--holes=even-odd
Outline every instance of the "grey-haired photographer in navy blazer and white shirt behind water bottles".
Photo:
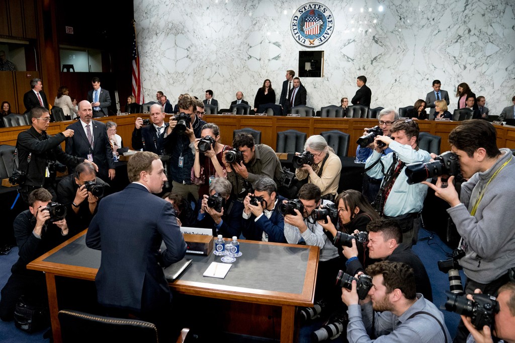
[[277,185],[270,178],[261,178],[254,183],[254,197],[262,197],[258,202],[247,195],[243,204],[243,235],[252,241],[286,243],[284,237],[284,216],[279,206],[284,198],[277,193]]

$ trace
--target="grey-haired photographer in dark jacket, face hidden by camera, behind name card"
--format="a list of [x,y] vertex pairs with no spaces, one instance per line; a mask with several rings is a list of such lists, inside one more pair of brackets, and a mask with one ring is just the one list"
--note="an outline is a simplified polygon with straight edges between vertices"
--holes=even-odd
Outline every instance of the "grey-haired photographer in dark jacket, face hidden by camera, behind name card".
[[227,179],[215,178],[211,181],[210,196],[204,195],[200,202],[199,228],[213,229],[213,236],[221,234],[226,238],[239,238],[242,233],[243,204],[233,199],[231,191],[232,185]]

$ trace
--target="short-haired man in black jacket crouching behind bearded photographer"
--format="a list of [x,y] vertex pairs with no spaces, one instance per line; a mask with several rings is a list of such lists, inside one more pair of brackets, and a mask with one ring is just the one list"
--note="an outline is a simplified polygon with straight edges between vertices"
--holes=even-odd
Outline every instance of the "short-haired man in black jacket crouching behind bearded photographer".
[[[433,301],[431,283],[424,264],[409,245],[402,242],[402,232],[397,221],[392,219],[372,220],[367,225],[368,255],[370,259],[380,259],[392,262],[403,262],[415,271],[417,293],[422,293],[425,299]],[[344,255],[348,259],[345,265],[349,275],[364,271],[357,259],[356,241],[352,239],[352,248],[344,247]]]

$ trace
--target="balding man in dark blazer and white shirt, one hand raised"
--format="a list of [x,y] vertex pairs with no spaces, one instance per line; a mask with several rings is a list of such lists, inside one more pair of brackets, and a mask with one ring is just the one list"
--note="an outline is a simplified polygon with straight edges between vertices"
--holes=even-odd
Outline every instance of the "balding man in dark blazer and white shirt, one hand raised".
[[143,119],[136,118],[134,131],[132,131],[132,148],[164,155],[163,137],[168,127],[168,123],[164,122],[164,117],[163,107],[153,104],[150,106],[150,122],[152,124],[143,126]]

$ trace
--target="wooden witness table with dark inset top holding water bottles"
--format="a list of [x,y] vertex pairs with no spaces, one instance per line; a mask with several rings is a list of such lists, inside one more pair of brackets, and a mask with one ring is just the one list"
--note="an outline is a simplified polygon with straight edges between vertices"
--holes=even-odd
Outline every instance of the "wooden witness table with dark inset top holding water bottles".
[[[56,276],[94,281],[100,266],[101,252],[85,246],[86,232],[84,230],[27,265],[28,269],[45,272],[56,343],[61,342],[58,312],[62,309],[57,301]],[[280,341],[293,342],[298,337],[296,306],[313,306],[319,248],[245,240],[239,242],[243,256],[233,263],[225,279],[202,277],[213,260],[219,262],[219,256],[213,253],[209,256],[187,254],[185,258],[193,259],[192,266],[169,283],[170,289],[179,294],[225,299],[231,303],[279,306]],[[281,263],[277,262],[278,259]],[[252,285],[253,288],[245,285]],[[247,314],[237,315],[242,317]],[[253,318],[247,317],[246,320],[255,323]],[[249,325],[249,322],[245,324]]]

